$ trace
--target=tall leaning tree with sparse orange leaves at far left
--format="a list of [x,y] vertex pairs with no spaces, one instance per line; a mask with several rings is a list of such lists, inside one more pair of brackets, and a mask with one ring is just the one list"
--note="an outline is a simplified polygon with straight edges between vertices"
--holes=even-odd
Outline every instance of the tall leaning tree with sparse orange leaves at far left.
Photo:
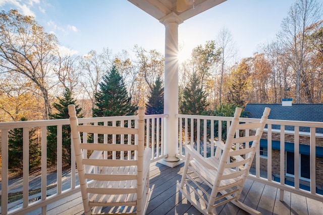
[[0,67],[5,72],[26,76],[42,94],[43,118],[51,113],[48,90],[51,62],[57,51],[57,38],[44,32],[35,19],[16,10],[0,13]]

